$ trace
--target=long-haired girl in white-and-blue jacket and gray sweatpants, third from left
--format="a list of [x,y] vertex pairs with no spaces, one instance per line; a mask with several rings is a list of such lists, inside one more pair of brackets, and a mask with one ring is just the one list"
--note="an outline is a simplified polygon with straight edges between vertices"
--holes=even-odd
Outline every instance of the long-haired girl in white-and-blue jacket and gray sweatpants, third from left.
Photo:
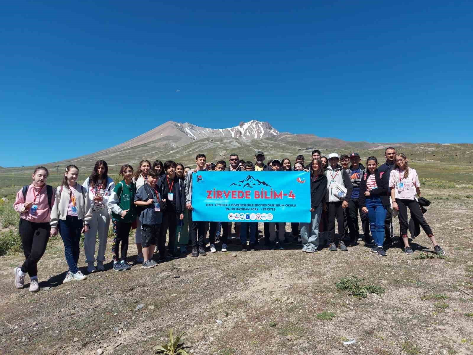
[[[107,247],[110,212],[107,208],[108,198],[114,191],[114,180],[108,176],[108,165],[105,160],[97,160],[90,176],[82,184],[88,191],[92,205],[92,219],[89,230],[84,235],[84,252],[87,271],[105,270],[105,249]],[[95,245],[98,232],[97,268],[95,267]]]

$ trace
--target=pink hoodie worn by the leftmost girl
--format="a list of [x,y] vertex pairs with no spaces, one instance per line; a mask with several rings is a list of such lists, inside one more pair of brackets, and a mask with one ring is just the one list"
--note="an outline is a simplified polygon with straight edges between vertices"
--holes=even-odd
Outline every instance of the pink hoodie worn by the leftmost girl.
[[[46,185],[43,188],[35,187],[31,184],[28,187],[28,191],[26,192],[26,201],[23,198],[23,189],[18,191],[17,198],[15,203],[13,204],[13,208],[15,211],[20,213],[20,218],[25,219],[29,222],[35,223],[49,223],[51,219],[51,208],[48,206],[48,194],[46,192]],[[41,191],[40,191],[41,190]],[[39,195],[38,194],[39,191]],[[36,196],[36,202],[38,209],[36,210],[35,214],[29,213],[29,210],[25,210],[25,202],[31,202]]]

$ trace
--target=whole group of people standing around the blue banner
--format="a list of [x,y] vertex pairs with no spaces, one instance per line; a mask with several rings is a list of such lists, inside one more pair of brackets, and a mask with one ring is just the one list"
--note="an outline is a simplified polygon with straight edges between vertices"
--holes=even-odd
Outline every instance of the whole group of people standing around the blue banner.
[[[408,239],[409,208],[411,219],[425,231],[435,253],[444,255],[445,251],[438,245],[420,208],[417,172],[409,167],[407,157],[393,147],[385,150],[385,158],[385,163],[379,165],[376,157],[368,157],[365,167],[357,152],[341,157],[330,153],[325,157],[319,150],[314,150],[308,164],[303,155],[298,155],[294,164],[289,158],[274,159],[265,164],[262,151],[255,153],[253,161],[240,160],[232,153],[228,164],[225,160],[207,162],[205,154],[197,154],[195,168],[172,160],[164,164],[156,160],[151,164],[145,159],[136,169],[123,164],[119,173],[122,180],[117,184],[108,176],[105,160],[98,160],[82,185],[78,183],[79,168],[68,165],[61,185],[56,189],[47,185],[48,169],[38,167],[33,172],[33,182],[18,191],[14,204],[20,213],[19,234],[25,254],[23,265],[14,269],[15,286],[23,288],[28,274],[29,290],[39,291],[37,263],[50,236],[58,232],[69,266],[63,283],[87,278],[78,267],[82,233],[88,274],[105,270],[110,222],[115,271],[131,269],[127,253],[132,230],[136,231],[138,250],[133,264],[143,268],[187,255],[189,245],[192,257],[205,256],[207,233],[208,250],[217,252],[216,245],[219,244],[220,250],[226,252],[231,241],[232,222],[193,221],[192,176],[201,170],[310,172],[310,206],[307,206],[310,222],[291,222],[289,236],[286,236],[286,223],[264,222],[263,248],[283,249],[285,244],[292,242],[299,244],[300,250],[306,253],[324,247],[330,251],[347,251],[348,247],[363,240],[372,252],[386,256],[386,248],[393,244],[393,217],[398,215],[403,249],[410,255],[413,250]],[[338,233],[335,233],[335,222]],[[257,222],[234,222],[234,230],[242,251],[259,247]]]

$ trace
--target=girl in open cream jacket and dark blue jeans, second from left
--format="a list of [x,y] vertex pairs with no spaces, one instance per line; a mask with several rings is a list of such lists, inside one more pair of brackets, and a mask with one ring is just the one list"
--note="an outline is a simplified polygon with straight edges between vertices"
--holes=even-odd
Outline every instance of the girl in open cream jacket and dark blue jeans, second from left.
[[51,210],[51,235],[61,234],[64,243],[69,271],[63,284],[72,280],[87,278],[77,267],[80,253],[80,234],[87,233],[92,219],[92,205],[87,190],[77,183],[79,168],[68,165],[62,178],[61,186],[56,188],[53,209]]

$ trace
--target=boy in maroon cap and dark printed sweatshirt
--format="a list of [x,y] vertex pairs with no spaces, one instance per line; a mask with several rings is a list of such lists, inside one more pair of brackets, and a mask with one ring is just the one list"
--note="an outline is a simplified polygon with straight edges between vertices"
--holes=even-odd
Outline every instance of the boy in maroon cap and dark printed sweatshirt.
[[351,165],[348,168],[347,172],[350,176],[350,181],[353,184],[353,191],[351,192],[351,198],[347,208],[348,229],[350,230],[350,244],[355,244],[359,240],[359,211],[364,240],[366,244],[370,244],[371,237],[369,236],[368,214],[362,212],[361,207],[359,206],[359,186],[361,184],[361,179],[363,178],[366,172],[364,165],[360,164],[359,160],[360,158],[358,153],[353,152],[350,154]]

